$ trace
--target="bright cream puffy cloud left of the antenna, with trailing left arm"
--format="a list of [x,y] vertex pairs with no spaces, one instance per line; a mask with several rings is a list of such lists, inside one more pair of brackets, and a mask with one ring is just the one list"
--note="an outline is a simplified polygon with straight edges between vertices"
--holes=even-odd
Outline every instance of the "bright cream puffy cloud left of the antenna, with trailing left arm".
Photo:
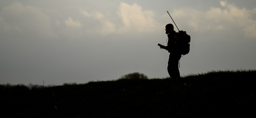
[[81,10],[84,16],[100,20],[101,33],[153,33],[156,30],[163,28],[154,19],[155,14],[150,10],[142,10],[142,7],[134,3],[129,5],[121,3],[117,11],[117,15],[122,19],[120,23],[114,23],[106,18],[100,12],[88,13],[87,11]]

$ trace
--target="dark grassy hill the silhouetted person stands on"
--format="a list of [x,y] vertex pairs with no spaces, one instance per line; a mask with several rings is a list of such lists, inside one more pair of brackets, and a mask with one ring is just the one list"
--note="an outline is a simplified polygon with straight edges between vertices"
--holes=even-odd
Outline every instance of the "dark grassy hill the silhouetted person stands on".
[[0,85],[0,117],[249,116],[255,111],[255,75],[256,70],[212,70],[172,79],[119,78],[31,90]]

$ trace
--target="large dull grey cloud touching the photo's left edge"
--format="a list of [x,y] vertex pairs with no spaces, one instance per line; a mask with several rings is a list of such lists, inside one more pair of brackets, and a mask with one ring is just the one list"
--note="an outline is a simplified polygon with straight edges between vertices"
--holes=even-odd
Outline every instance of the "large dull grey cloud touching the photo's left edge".
[[6,6],[0,13],[0,33],[33,34],[44,38],[57,36],[52,30],[50,17],[33,6],[18,2]]

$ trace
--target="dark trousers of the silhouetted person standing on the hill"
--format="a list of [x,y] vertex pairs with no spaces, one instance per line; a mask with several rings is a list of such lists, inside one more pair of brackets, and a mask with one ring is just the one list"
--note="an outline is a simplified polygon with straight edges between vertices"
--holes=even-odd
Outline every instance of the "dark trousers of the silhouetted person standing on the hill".
[[170,77],[180,77],[179,71],[179,60],[181,58],[181,54],[170,53],[167,70]]

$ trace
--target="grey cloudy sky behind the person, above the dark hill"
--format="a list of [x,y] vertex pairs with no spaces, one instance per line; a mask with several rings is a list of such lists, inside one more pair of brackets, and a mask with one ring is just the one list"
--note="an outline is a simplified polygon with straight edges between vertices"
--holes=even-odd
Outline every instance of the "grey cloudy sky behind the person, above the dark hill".
[[[190,37],[180,75],[256,68],[255,0],[0,0],[0,84],[169,77],[165,25]],[[174,30],[178,32],[174,25]]]

